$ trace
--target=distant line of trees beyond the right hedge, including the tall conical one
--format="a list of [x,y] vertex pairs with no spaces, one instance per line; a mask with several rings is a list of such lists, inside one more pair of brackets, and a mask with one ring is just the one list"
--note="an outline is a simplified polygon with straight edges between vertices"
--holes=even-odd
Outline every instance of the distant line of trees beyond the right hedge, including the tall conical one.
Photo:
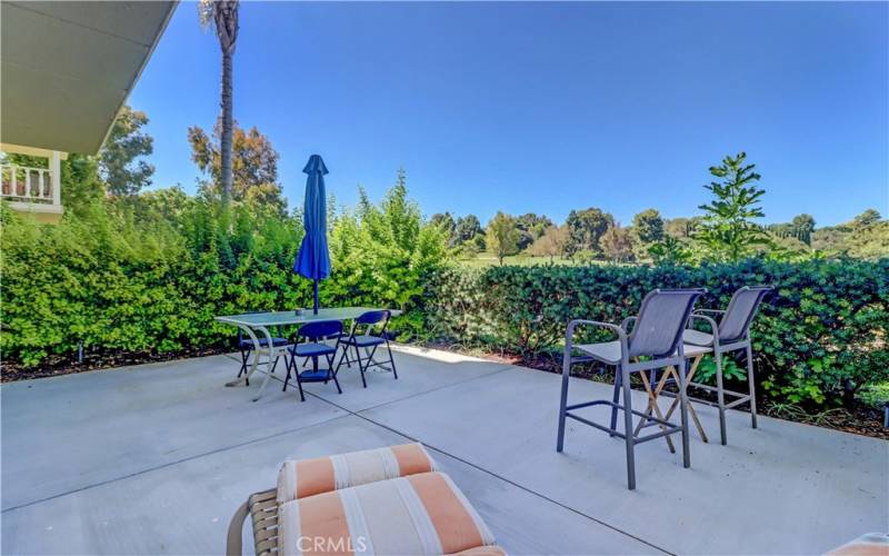
[[756,254],[772,258],[850,256],[876,258],[889,255],[889,221],[868,209],[852,221],[817,228],[811,215],[790,222],[761,225],[765,189],[756,165],[740,152],[710,168],[712,181],[705,186],[709,202],[700,216],[667,219],[653,208],[645,209],[622,226],[597,207],[575,209],[562,225],[546,215],[518,217],[498,211],[485,228],[475,215],[436,214],[431,224],[448,237],[448,246],[460,257],[487,251],[503,264],[506,257],[527,254],[577,262],[603,260],[693,262],[736,261]]

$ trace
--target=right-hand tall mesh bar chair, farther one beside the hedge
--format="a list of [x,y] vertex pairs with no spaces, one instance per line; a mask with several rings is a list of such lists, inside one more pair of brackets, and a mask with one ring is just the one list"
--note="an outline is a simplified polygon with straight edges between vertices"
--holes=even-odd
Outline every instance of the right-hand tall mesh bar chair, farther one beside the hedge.
[[[692,381],[693,370],[689,373],[688,385],[716,393],[717,405],[719,407],[719,433],[723,445],[727,443],[726,409],[749,401],[751,425],[753,428],[757,428],[757,399],[753,385],[753,350],[750,345],[750,324],[753,321],[753,317],[762,299],[773,289],[775,288],[771,286],[745,286],[731,296],[731,300],[726,310],[698,309],[691,314],[689,325],[695,320],[707,322],[710,328],[709,334],[695,330],[691,327],[686,329],[682,334],[682,340],[686,344],[685,351],[687,354],[690,350],[713,354],[713,359],[716,360],[716,387]],[[716,320],[708,317],[707,314],[720,315],[719,325],[717,325]],[[722,354],[740,350],[745,351],[747,358],[747,394],[727,390],[722,387]],[[697,361],[692,368],[697,368]],[[726,404],[726,395],[736,399]],[[677,401],[673,401],[672,406],[667,411],[668,418],[676,409],[676,404]],[[702,429],[700,430],[701,433],[703,431]],[[706,441],[707,437],[705,435],[701,436]]]

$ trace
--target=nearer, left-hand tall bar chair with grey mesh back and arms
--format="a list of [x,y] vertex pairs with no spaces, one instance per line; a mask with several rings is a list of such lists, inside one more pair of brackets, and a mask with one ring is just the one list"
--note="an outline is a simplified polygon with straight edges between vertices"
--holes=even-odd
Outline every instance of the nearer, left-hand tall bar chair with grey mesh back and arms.
[[[642,299],[638,317],[630,317],[620,326],[597,322],[595,320],[572,320],[568,324],[568,331],[565,341],[565,358],[562,363],[562,389],[561,403],[559,408],[559,433],[556,444],[556,451],[562,451],[565,447],[565,419],[570,417],[575,420],[589,425],[617,436],[625,440],[627,449],[627,485],[630,490],[636,488],[636,456],[635,447],[637,444],[653,440],[660,437],[668,437],[676,433],[682,435],[682,466],[689,467],[691,458],[688,447],[688,414],[686,411],[686,356],[682,345],[682,331],[686,321],[691,315],[695,301],[703,294],[705,289],[656,289]],[[635,322],[632,331],[627,330],[628,325]],[[575,330],[578,326],[590,325],[612,330],[618,335],[615,341],[599,344],[575,345]],[[580,404],[568,405],[568,383],[571,374],[572,350],[578,349],[586,354],[578,360],[597,360],[608,366],[617,367],[615,374],[615,394],[611,400],[597,399]],[[635,359],[630,363],[630,359]],[[658,417],[649,416],[632,408],[632,395],[630,390],[630,375],[640,373],[646,378],[646,371],[675,368],[679,376],[679,400],[681,424],[668,421],[661,418],[660,409],[656,409]],[[619,385],[618,385],[618,381]],[[623,390],[623,405],[619,404],[620,390]],[[650,388],[649,390],[650,396]],[[593,423],[587,418],[571,413],[575,409],[607,405],[611,407],[611,425],[606,427]],[[657,407],[657,404],[656,406]],[[617,411],[623,410],[623,433],[617,429]],[[648,421],[658,425],[660,430],[646,436],[639,436],[632,427],[632,416],[638,415]]]

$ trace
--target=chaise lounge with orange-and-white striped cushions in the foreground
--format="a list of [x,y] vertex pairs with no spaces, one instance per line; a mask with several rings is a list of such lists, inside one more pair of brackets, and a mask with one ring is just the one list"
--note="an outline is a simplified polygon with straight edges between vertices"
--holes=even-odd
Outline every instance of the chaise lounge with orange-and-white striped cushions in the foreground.
[[248,515],[257,555],[505,555],[420,444],[284,463],[278,488],[251,495],[232,517],[229,556],[241,554]]

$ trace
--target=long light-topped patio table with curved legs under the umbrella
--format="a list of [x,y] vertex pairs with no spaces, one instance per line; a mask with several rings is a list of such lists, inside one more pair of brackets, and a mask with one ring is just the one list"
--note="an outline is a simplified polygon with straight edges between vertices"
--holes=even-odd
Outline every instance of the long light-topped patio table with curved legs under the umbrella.
[[[217,321],[227,325],[237,326],[240,328],[250,341],[253,344],[253,357],[250,367],[242,376],[226,383],[226,386],[238,386],[247,384],[250,376],[259,369],[260,365],[266,366],[266,378],[259,387],[259,391],[253,397],[257,401],[262,397],[266,386],[269,384],[272,374],[274,373],[274,361],[281,356],[287,356],[288,346],[276,346],[272,341],[272,335],[269,328],[287,325],[302,325],[318,320],[354,320],[367,311],[372,310],[388,310],[393,317],[401,315],[398,309],[378,309],[372,307],[337,307],[331,309],[318,309],[318,314],[312,312],[311,309],[302,309],[301,311],[270,311],[270,312],[244,312],[241,315],[224,315],[214,317]],[[260,361],[260,356],[264,355],[267,359]]]

